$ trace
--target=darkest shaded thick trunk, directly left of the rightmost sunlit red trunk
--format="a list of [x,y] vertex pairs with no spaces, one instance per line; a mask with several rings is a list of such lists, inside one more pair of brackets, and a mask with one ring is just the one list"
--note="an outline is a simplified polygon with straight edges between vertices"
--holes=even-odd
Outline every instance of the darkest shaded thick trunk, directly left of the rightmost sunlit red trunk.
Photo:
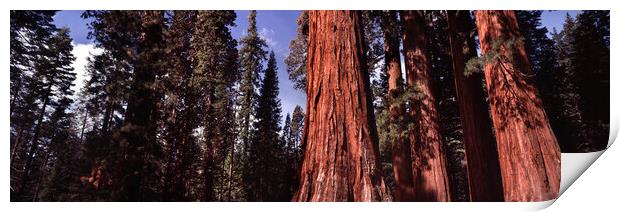
[[497,145],[482,89],[482,73],[465,76],[465,62],[475,58],[469,11],[448,11],[448,32],[456,95],[463,127],[471,201],[503,201]]

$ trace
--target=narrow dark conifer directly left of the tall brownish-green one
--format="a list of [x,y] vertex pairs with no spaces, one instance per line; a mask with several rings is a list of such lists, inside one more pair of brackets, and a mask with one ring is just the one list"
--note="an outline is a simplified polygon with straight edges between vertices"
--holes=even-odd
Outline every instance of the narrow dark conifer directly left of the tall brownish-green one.
[[170,30],[166,33],[169,71],[159,85],[159,89],[164,90],[160,103],[160,131],[166,151],[162,198],[166,201],[188,201],[193,199],[190,195],[192,188],[198,187],[191,184],[191,179],[198,177],[191,171],[191,166],[199,158],[196,154],[199,147],[193,136],[198,123],[193,114],[198,104],[184,104],[196,102],[196,94],[189,82],[194,71],[191,44],[198,12],[174,11],[170,15]]

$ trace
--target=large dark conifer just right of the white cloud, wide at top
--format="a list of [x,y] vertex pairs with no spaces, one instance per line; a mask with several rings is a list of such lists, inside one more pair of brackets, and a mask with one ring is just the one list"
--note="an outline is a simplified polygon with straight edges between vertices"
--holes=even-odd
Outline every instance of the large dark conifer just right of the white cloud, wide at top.
[[161,147],[157,131],[156,78],[163,75],[163,11],[87,11],[92,18],[89,36],[113,58],[131,67],[130,90],[122,126],[114,131],[107,165],[112,171],[111,199],[137,201],[156,199]]

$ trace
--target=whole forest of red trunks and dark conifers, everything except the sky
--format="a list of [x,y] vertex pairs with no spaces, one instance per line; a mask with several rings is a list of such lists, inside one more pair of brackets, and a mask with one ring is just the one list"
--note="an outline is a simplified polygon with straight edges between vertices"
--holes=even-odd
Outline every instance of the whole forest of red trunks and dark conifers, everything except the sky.
[[286,70],[261,12],[85,11],[74,90],[58,11],[11,11],[11,201],[545,201],[607,147],[609,11],[302,11]]

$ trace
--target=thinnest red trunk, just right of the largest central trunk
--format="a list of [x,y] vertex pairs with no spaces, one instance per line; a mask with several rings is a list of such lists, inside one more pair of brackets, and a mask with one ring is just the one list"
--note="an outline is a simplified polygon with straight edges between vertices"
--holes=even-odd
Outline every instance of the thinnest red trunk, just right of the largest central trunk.
[[392,139],[392,161],[394,169],[395,201],[413,200],[413,172],[411,170],[411,144],[409,138],[401,136],[407,130],[405,122],[406,111],[403,96],[403,78],[400,68],[399,31],[395,11],[386,11],[383,14],[383,50],[388,75],[389,123]]

